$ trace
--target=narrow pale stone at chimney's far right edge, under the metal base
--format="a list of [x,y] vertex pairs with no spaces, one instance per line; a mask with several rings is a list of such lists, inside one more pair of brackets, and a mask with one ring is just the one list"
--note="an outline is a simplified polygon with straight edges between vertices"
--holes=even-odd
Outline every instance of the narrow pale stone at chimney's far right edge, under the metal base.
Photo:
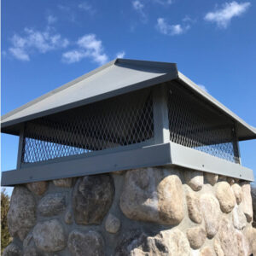
[[247,222],[251,222],[253,220],[253,200],[251,195],[251,186],[250,183],[243,183],[241,185],[242,191],[242,201],[241,207],[244,212]]

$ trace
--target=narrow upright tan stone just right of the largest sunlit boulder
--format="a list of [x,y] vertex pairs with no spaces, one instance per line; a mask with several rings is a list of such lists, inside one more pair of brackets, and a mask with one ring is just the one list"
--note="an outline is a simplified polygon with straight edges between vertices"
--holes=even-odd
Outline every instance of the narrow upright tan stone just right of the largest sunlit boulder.
[[197,224],[201,224],[202,216],[199,197],[195,192],[188,192],[186,195],[189,218]]

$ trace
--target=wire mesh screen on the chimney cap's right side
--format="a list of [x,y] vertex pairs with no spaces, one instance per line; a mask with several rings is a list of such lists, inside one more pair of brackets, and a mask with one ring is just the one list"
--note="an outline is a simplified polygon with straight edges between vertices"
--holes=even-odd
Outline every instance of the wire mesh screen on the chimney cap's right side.
[[232,120],[200,96],[173,82],[168,85],[170,140],[224,160],[239,163]]

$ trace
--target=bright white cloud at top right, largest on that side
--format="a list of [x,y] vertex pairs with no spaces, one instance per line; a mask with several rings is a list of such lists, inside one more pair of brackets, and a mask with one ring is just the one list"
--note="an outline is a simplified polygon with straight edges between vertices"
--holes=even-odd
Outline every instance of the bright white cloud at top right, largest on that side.
[[230,24],[230,20],[240,16],[247,11],[251,3],[224,3],[222,9],[217,9],[214,12],[209,12],[205,15],[205,20],[216,22],[219,27],[226,28]]

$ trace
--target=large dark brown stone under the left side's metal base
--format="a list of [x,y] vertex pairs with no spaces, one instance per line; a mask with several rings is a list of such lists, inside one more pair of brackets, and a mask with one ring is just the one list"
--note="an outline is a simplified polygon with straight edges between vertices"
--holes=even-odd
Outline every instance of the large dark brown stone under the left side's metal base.
[[73,214],[77,224],[101,224],[112,205],[113,179],[108,174],[79,177],[73,189]]

